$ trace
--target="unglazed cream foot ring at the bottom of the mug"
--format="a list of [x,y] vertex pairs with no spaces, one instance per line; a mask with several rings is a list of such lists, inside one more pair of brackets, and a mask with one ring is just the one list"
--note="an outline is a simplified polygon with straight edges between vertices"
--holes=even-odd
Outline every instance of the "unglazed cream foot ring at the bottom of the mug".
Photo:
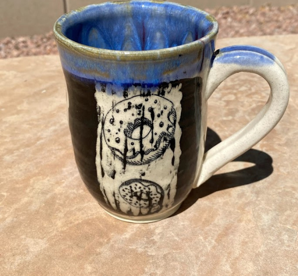
[[147,216],[124,216],[121,214],[116,214],[110,210],[107,210],[105,207],[100,205],[100,207],[102,207],[104,209],[104,211],[106,213],[108,213],[110,216],[117,218],[119,220],[122,220],[122,221],[133,222],[133,223],[149,223],[149,222],[155,222],[155,221],[167,218],[167,217],[171,216],[174,212],[176,212],[180,208],[180,206],[181,206],[181,204],[179,204],[171,209],[168,209],[161,214],[157,213],[155,215],[153,214],[153,215],[150,215],[147,217]]

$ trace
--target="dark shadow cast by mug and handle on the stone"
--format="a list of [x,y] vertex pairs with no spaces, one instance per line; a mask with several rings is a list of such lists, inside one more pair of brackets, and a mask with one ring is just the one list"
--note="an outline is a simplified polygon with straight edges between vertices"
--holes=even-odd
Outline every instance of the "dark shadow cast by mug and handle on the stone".
[[[205,152],[221,141],[222,140],[218,134],[208,128]],[[254,163],[254,166],[228,173],[213,175],[198,188],[192,189],[188,197],[174,215],[185,211],[195,204],[198,199],[207,197],[218,191],[254,183],[268,177],[273,172],[272,157],[266,152],[257,149],[249,149],[232,162],[234,161]]]

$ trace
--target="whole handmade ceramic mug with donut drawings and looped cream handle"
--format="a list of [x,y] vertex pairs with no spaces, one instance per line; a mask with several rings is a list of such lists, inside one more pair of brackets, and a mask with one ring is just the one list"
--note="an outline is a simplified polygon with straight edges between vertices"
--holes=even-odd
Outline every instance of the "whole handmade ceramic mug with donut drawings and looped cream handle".
[[[170,216],[283,116],[289,86],[279,60],[253,46],[215,52],[217,33],[205,11],[156,1],[89,5],[55,23],[75,161],[110,215],[130,222]],[[267,80],[268,102],[204,154],[207,100],[239,71]]]

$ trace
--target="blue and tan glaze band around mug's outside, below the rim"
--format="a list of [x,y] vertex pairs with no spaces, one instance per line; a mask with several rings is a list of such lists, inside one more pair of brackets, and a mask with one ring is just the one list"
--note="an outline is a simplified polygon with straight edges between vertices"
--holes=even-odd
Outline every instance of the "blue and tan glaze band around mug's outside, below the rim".
[[[59,48],[59,47],[58,47]],[[59,49],[63,67],[74,75],[110,81],[114,83],[160,83],[180,78],[190,78],[199,75],[202,69],[202,57],[198,53],[189,53],[176,59],[134,62],[109,62],[100,59],[80,59],[69,51]],[[211,53],[212,55],[212,53]],[[210,61],[211,56],[208,58]],[[172,70],[166,74],[165,71]],[[105,72],[107,76],[98,72]],[[185,72],[185,73],[184,73]]]

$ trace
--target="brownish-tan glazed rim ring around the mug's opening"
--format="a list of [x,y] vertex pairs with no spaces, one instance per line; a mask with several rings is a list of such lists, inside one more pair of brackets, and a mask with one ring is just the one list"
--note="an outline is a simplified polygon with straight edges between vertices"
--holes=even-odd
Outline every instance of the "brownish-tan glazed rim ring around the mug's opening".
[[[171,4],[173,6],[191,9],[193,11],[199,12],[202,15],[205,15],[205,19],[212,23],[212,29],[208,31],[208,33],[195,40],[193,42],[189,42],[183,45],[170,47],[170,48],[163,48],[158,50],[145,50],[145,51],[118,51],[118,50],[107,50],[102,48],[95,48],[87,45],[80,44],[75,42],[68,37],[66,37],[63,32],[63,25],[67,24],[68,20],[72,18],[74,14],[83,12],[84,9],[89,7],[96,7],[96,6],[104,6],[107,4],[128,4],[130,2],[151,2],[155,4]],[[211,42],[211,40],[215,39],[218,33],[218,22],[216,21],[215,17],[209,14],[208,12],[201,10],[199,8],[195,8],[188,5],[182,5],[174,2],[168,1],[154,1],[154,0],[132,0],[132,1],[112,1],[112,2],[105,2],[100,4],[91,4],[87,5],[75,10],[72,10],[64,15],[62,15],[54,24],[54,37],[61,46],[70,49],[78,54],[82,54],[84,56],[90,58],[101,58],[105,60],[116,60],[116,61],[141,61],[141,60],[160,60],[165,58],[175,57],[177,55],[187,54],[189,52],[202,49],[202,47]]]

